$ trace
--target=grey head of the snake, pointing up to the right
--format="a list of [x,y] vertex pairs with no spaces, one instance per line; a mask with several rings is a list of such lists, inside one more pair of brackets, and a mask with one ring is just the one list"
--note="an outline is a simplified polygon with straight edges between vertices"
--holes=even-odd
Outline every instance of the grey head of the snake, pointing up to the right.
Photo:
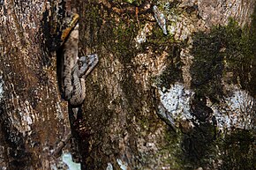
[[94,70],[94,67],[99,62],[97,54],[91,54],[79,57],[79,78],[86,78],[87,75]]

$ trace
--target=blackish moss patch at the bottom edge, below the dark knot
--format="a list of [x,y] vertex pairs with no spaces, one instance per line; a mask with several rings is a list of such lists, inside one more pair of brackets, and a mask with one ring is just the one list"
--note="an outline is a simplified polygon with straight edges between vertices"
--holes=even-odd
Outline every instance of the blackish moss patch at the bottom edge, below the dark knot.
[[216,129],[211,123],[200,123],[191,131],[184,133],[182,138],[182,155],[184,169],[210,167],[210,159],[215,159]]

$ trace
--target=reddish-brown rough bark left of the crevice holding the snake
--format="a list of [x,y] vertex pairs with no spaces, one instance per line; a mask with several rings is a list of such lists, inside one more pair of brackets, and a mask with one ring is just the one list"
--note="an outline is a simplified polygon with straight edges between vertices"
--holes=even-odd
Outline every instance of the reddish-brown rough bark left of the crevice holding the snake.
[[61,10],[60,3],[10,0],[0,6],[2,168],[56,166],[50,151],[70,131],[67,104],[57,87],[56,58],[46,50],[49,44],[41,34],[53,29],[46,18],[53,23],[54,6]]

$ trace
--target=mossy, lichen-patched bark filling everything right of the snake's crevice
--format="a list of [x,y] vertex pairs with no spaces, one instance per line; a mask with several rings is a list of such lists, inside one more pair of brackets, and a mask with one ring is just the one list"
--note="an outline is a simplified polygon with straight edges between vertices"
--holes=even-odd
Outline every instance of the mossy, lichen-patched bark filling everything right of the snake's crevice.
[[100,55],[77,123],[84,168],[253,169],[254,4],[80,1],[81,52]]

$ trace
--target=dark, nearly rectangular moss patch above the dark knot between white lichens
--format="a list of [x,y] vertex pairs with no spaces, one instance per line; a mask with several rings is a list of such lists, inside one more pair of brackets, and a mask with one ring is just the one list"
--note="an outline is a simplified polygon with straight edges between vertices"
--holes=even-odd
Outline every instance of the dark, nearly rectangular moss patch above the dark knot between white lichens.
[[222,95],[223,34],[224,27],[220,27],[211,33],[200,32],[193,36],[192,88],[196,93],[210,96],[211,99],[218,99]]

